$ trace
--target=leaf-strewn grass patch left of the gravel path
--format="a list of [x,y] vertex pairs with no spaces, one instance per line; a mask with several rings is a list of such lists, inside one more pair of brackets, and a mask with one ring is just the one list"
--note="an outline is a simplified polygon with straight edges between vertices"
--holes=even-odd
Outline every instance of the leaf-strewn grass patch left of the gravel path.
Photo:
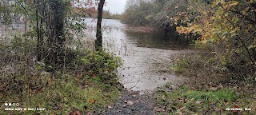
[[[51,79],[47,87],[40,91],[26,89],[22,92],[21,108],[42,108],[43,111],[4,111],[0,114],[66,114],[77,111],[82,114],[102,112],[106,105],[117,101],[119,91],[116,87],[92,79],[86,81]],[[5,102],[19,102],[18,93],[10,93],[2,98]],[[18,96],[18,97],[17,97]],[[14,107],[12,107],[14,108]]]

